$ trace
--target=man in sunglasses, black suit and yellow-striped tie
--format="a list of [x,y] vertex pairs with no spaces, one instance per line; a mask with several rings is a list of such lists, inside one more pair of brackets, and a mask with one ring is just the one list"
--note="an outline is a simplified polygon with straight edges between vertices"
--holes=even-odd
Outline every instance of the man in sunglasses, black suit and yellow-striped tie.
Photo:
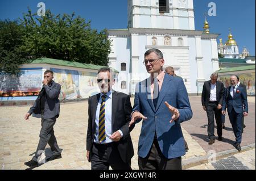
[[87,159],[92,170],[130,170],[134,155],[129,127],[131,102],[129,95],[112,90],[113,73],[101,68],[97,75],[100,94],[88,100]]

